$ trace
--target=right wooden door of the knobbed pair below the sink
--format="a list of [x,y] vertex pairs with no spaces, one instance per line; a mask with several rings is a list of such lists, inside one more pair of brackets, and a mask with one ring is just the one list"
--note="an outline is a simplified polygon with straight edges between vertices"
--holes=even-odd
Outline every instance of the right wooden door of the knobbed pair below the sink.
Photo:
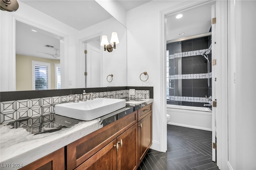
[[118,170],[136,170],[138,167],[138,123],[130,127],[117,138]]

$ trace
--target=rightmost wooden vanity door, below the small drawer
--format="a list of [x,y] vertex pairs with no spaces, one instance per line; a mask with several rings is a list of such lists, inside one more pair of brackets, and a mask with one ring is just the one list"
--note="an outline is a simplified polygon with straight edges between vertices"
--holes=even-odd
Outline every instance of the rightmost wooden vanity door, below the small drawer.
[[138,122],[138,164],[152,145],[152,112]]

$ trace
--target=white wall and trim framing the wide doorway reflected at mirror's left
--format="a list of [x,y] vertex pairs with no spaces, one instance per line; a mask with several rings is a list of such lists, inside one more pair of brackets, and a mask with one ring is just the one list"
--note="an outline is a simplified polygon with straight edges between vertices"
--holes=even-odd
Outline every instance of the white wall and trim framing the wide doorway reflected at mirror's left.
[[[1,52],[0,52],[0,74],[1,91],[15,90],[15,23],[19,21],[39,27],[46,31],[55,33],[65,39],[65,55],[61,58],[65,74],[63,88],[76,87],[76,57],[78,47],[78,31],[30,6],[19,2],[19,9],[16,12],[0,11],[1,15]],[[69,86],[69,80],[72,85]]]

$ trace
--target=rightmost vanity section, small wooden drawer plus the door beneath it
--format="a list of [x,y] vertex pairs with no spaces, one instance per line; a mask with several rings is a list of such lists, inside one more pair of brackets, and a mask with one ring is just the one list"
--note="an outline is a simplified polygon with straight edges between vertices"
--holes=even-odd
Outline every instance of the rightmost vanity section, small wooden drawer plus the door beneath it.
[[138,110],[138,164],[152,145],[152,104]]

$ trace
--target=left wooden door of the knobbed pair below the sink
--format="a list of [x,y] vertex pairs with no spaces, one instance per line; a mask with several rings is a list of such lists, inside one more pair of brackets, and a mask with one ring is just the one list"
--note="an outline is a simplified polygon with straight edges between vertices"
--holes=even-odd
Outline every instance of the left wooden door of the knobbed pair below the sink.
[[116,170],[116,145],[115,139],[75,170]]

